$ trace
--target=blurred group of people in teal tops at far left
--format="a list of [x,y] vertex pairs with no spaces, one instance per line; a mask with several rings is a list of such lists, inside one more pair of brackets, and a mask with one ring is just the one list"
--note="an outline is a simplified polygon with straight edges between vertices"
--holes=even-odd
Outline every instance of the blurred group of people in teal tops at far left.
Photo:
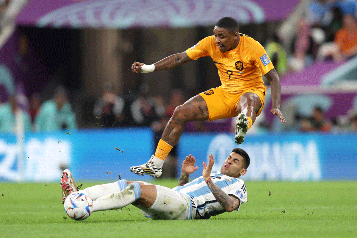
[[43,103],[38,93],[32,94],[30,100],[20,100],[19,95],[10,95],[7,102],[0,102],[0,133],[77,128],[76,115],[63,86],[58,86],[53,97]]

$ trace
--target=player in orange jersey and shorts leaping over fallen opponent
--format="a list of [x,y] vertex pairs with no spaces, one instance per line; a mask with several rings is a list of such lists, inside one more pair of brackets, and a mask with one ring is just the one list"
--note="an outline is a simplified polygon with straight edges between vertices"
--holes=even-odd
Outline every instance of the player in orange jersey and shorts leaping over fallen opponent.
[[200,93],[178,106],[167,123],[157,145],[155,155],[142,165],[130,170],[136,174],[160,177],[161,168],[170,150],[176,145],[186,123],[192,120],[216,120],[237,116],[235,141],[241,144],[245,133],[255,122],[264,106],[265,75],[271,85],[272,114],[285,123],[280,111],[281,84],[271,60],[263,46],[253,38],[240,34],[237,21],[224,17],[217,21],[212,36],[178,54],[171,55],[155,64],[134,62],[134,73],[149,73],[172,69],[191,60],[210,56],[217,66],[222,85]]

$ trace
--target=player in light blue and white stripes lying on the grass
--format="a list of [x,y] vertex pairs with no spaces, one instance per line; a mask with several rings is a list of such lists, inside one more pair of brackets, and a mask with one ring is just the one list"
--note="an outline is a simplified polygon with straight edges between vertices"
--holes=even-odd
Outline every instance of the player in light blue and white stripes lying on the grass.
[[[94,212],[133,204],[151,219],[208,219],[223,212],[238,211],[240,205],[247,202],[247,188],[239,177],[247,172],[250,164],[248,154],[235,148],[221,171],[212,172],[213,164],[211,154],[208,164],[203,162],[202,176],[188,182],[190,174],[198,169],[195,157],[188,155],[182,163],[178,186],[172,189],[146,182],[119,180],[80,192],[91,197]],[[63,201],[70,193],[78,191],[68,169],[62,173],[61,187]]]

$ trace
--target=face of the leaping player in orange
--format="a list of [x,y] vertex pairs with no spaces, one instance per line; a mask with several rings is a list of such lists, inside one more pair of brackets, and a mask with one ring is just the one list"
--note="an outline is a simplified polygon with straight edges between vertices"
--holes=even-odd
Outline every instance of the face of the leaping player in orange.
[[215,35],[217,47],[221,52],[232,50],[236,48],[239,43],[239,35],[237,32],[230,33],[225,28],[215,26],[215,28],[213,29],[213,34]]

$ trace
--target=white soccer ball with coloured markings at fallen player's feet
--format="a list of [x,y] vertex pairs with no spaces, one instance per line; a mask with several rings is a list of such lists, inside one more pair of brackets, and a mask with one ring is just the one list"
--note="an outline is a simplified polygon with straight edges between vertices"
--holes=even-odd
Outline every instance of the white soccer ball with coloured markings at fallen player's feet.
[[64,209],[73,220],[84,220],[93,212],[93,201],[84,193],[74,192],[66,198]]

